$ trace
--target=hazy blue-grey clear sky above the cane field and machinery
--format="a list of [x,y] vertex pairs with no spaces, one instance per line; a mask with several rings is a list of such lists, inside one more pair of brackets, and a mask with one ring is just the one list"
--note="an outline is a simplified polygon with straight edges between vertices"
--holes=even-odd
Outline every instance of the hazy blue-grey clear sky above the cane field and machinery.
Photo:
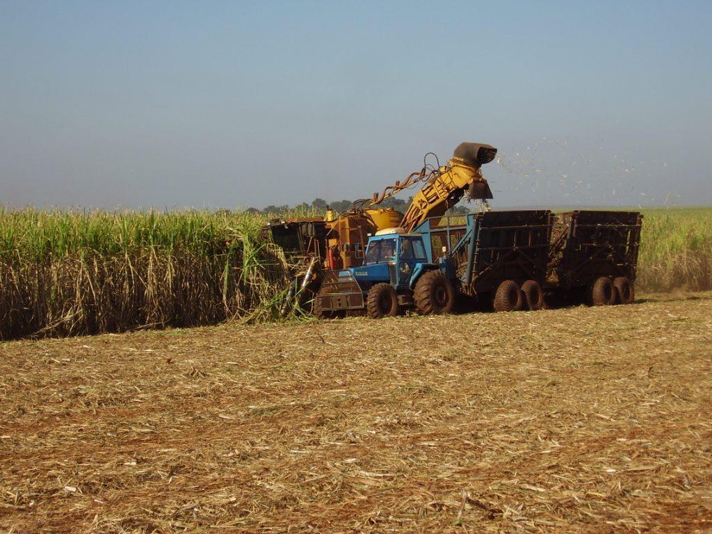
[[[0,204],[712,204],[711,2],[0,0]],[[413,192],[407,192],[404,196]]]

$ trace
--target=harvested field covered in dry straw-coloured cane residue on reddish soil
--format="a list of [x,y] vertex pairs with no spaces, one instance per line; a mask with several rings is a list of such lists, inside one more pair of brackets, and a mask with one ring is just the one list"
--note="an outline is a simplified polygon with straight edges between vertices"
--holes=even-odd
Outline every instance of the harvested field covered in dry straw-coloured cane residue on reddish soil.
[[712,293],[0,345],[0,529],[712,530]]

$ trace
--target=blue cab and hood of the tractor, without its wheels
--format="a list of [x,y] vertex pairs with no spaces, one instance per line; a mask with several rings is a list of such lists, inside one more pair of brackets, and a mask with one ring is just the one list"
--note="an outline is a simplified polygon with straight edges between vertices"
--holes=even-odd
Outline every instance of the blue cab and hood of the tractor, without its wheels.
[[414,274],[429,263],[421,234],[388,233],[371,236],[365,265],[351,268],[354,278],[367,283],[389,283],[396,289],[412,288]]

